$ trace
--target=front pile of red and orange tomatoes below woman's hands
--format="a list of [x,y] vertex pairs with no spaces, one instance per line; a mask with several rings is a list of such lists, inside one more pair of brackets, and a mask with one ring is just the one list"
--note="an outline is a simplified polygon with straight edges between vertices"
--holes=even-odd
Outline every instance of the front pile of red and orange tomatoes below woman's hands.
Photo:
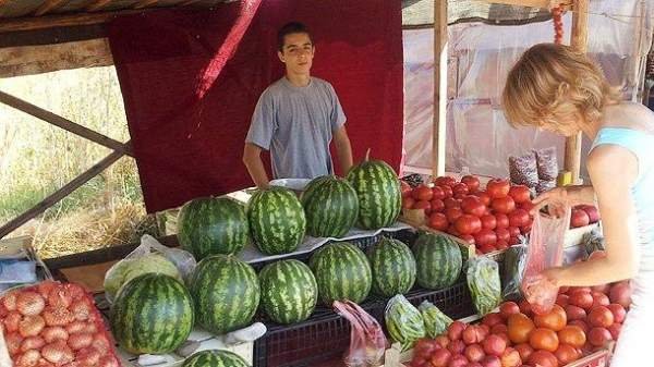
[[410,366],[565,366],[616,340],[630,303],[628,282],[561,289],[543,315],[524,301],[505,302],[477,325],[455,321],[436,339],[417,341]]

